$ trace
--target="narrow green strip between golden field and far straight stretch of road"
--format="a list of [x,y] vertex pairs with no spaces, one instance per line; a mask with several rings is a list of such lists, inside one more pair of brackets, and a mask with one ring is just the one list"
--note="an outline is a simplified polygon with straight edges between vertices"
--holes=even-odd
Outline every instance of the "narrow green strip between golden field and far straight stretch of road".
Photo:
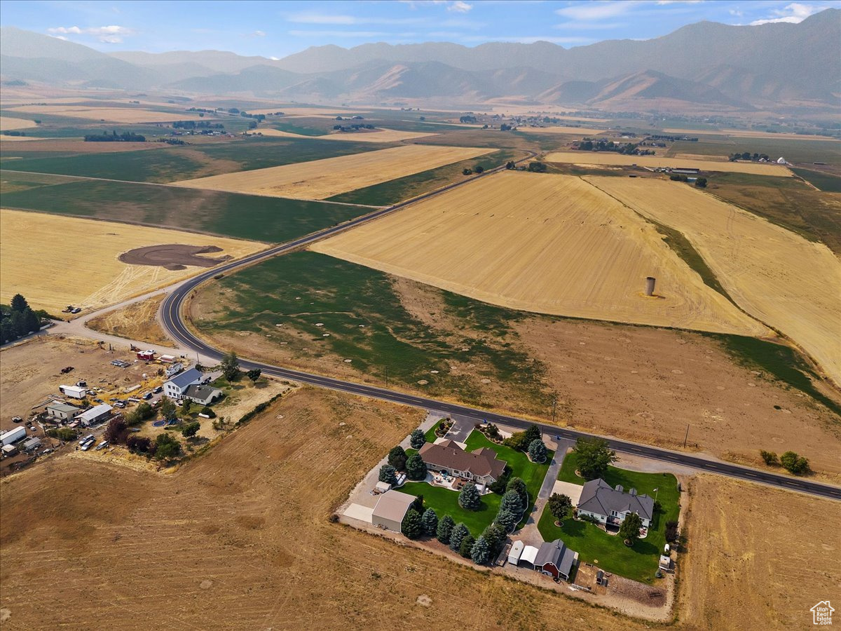
[[499,167],[509,160],[517,160],[522,156],[521,151],[495,151],[485,156],[479,156],[463,162],[448,164],[444,167],[430,169],[407,175],[405,178],[397,178],[374,184],[366,188],[357,188],[329,198],[330,201],[344,202],[345,204],[368,204],[372,206],[389,206],[397,204],[404,199],[410,199],[428,191],[435,190],[452,182],[458,182],[465,176],[463,169],[474,169],[482,167],[485,170]]

